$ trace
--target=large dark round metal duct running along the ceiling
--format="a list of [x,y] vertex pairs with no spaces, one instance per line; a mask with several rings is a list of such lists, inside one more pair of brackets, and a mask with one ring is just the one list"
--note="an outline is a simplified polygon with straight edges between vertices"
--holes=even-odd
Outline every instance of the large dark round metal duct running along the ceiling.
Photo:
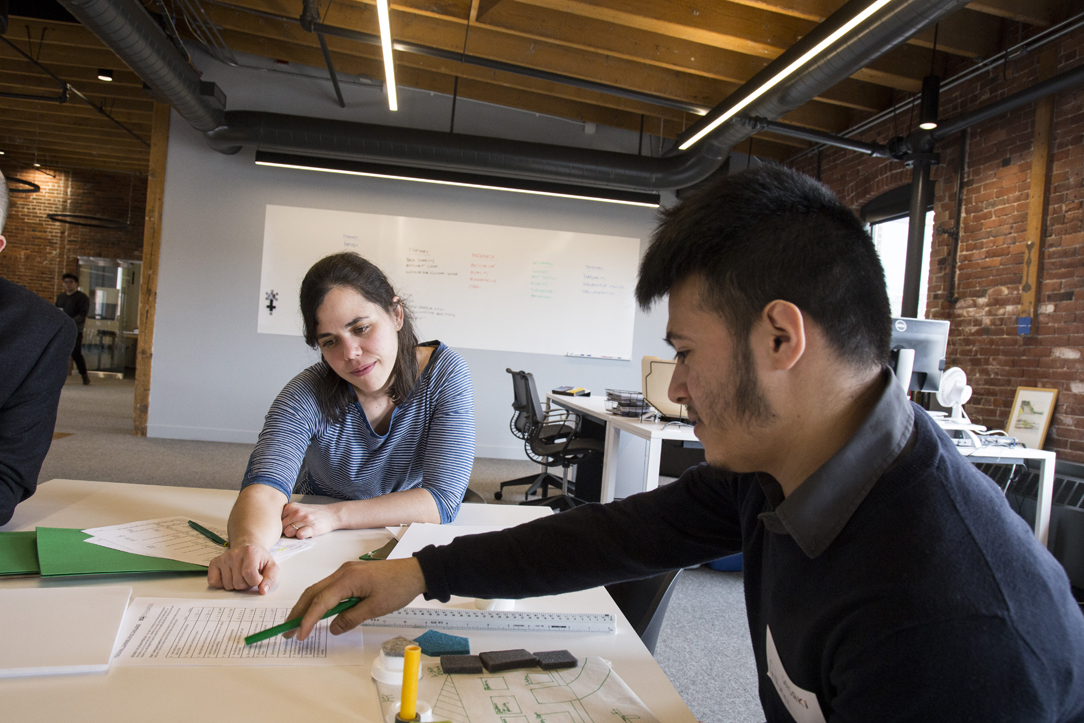
[[[60,0],[79,22],[112,48],[153,91],[166,99],[211,147],[236,153],[246,145],[266,151],[328,155],[354,160],[456,170],[602,188],[679,189],[715,171],[730,150],[754,130],[731,119],[688,151],[662,158],[606,151],[374,126],[263,112],[224,112],[224,98],[178,52],[136,0]],[[968,0],[894,0],[848,36],[744,108],[776,119],[851,76]],[[869,0],[852,0],[739,88],[725,109],[787,67]],[[735,100],[732,100],[735,99]],[[709,114],[710,116],[711,114]],[[691,129],[692,130],[692,129]]]

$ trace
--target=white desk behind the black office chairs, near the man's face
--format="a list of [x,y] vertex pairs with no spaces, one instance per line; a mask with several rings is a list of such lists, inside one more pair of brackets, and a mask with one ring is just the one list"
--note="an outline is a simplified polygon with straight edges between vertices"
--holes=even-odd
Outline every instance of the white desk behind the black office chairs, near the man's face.
[[610,414],[606,411],[605,397],[565,397],[550,392],[546,404],[556,404],[577,414],[591,417],[606,425],[606,442],[603,451],[602,502],[612,502],[617,488],[617,454],[622,434],[640,437],[647,441],[644,453],[644,477],[638,492],[654,490],[659,486],[659,460],[662,456],[662,440],[683,442],[699,441],[687,425],[667,425],[662,422],[641,422],[636,417]]

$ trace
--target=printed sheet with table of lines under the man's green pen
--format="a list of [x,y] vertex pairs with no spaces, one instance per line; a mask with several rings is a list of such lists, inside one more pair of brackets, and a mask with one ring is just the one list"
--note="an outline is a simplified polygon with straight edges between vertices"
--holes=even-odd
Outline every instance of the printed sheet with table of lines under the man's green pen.
[[305,642],[276,635],[254,645],[245,636],[286,621],[291,603],[137,597],[128,608],[113,664],[177,666],[361,666],[361,628],[341,635],[317,623]]

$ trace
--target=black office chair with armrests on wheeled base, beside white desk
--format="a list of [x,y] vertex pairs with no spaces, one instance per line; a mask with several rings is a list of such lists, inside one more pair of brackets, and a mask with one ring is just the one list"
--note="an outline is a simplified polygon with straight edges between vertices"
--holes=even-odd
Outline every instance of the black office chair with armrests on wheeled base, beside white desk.
[[[512,375],[513,415],[509,428],[519,439],[524,440],[524,450],[528,459],[546,467],[560,466],[560,478],[549,472],[528,475],[517,479],[501,482],[501,489],[493,496],[500,500],[504,496],[504,488],[527,486],[524,502],[520,504],[544,504],[554,509],[568,509],[581,500],[576,499],[575,486],[568,479],[569,468],[591,454],[603,451],[603,443],[595,439],[583,439],[578,436],[579,417],[568,410],[555,409],[550,412],[542,410],[538,389],[534,386],[534,375],[530,372],[505,370]],[[559,487],[562,493],[549,496],[550,486]],[[541,490],[542,496],[531,500],[531,495]]]

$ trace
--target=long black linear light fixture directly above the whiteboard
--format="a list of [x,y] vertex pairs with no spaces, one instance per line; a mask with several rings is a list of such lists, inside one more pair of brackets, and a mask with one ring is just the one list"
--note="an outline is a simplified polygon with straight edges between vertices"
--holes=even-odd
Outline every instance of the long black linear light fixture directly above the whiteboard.
[[406,168],[388,164],[362,163],[356,160],[339,160],[337,158],[313,158],[295,156],[285,153],[256,152],[257,166],[275,168],[296,168],[300,170],[318,170],[327,173],[344,173],[347,176],[367,176],[370,178],[390,178],[399,181],[417,181],[420,183],[439,183],[457,185],[467,189],[486,189],[488,191],[511,191],[513,193],[531,193],[539,196],[556,196],[558,198],[577,198],[579,201],[601,201],[608,204],[625,206],[645,206],[657,208],[659,194],[622,191],[619,189],[591,189],[570,183],[551,183],[546,181],[528,181],[514,178],[496,178],[479,173],[463,173],[460,171],[435,170],[429,168]]

